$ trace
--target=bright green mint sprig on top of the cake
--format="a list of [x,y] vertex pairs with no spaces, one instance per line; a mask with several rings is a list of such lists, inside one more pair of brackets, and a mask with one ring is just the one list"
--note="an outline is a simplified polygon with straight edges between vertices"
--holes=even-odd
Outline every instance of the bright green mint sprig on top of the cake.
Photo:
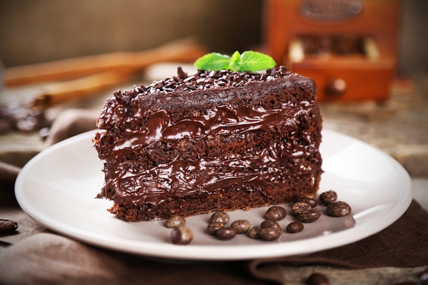
[[276,62],[269,55],[257,51],[235,51],[230,57],[221,53],[208,53],[196,60],[194,66],[199,70],[232,70],[232,71],[260,71],[273,68]]

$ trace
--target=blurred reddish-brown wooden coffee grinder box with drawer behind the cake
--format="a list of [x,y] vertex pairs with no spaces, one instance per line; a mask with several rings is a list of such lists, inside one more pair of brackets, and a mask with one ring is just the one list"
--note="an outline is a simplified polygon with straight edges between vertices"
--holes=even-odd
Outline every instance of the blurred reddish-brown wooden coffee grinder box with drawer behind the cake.
[[268,53],[312,77],[321,101],[386,100],[400,8],[399,0],[268,0]]

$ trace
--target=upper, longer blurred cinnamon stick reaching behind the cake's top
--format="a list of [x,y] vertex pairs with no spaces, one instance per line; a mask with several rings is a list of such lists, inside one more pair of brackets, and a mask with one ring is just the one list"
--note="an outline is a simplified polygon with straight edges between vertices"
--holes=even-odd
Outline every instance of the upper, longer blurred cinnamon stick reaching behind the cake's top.
[[193,62],[205,53],[195,40],[187,38],[140,52],[105,53],[5,68],[4,84],[62,81],[106,71],[132,72],[159,62]]

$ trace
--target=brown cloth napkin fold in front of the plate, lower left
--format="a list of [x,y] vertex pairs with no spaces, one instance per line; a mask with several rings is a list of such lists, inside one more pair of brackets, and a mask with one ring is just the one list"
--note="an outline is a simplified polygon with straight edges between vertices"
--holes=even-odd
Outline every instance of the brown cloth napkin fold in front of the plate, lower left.
[[0,252],[0,284],[265,284],[241,262],[150,260],[39,233]]

